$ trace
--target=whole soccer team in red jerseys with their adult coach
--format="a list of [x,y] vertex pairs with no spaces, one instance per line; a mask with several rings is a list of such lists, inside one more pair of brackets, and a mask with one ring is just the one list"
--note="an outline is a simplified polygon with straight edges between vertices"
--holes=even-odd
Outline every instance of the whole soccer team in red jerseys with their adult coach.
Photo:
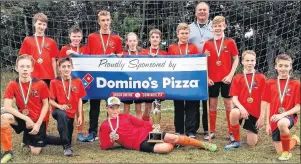
[[[1,146],[4,154],[1,163],[12,159],[12,131],[23,132],[23,143],[33,154],[40,154],[45,145],[62,145],[64,155],[71,156],[74,122],[77,140],[100,140],[101,149],[109,149],[118,143],[127,149],[144,152],[168,153],[176,146],[195,146],[215,152],[216,144],[196,139],[200,124],[200,101],[174,100],[175,133],[163,133],[162,143],[150,143],[149,132],[152,101],[121,101],[109,97],[106,101],[108,119],[98,132],[101,100],[89,100],[89,134],[84,135],[83,100],[86,96],[81,79],[73,77],[72,54],[116,55],[189,55],[203,53],[208,59],[209,114],[207,101],[202,101],[202,125],[204,139],[216,137],[218,96],[221,93],[226,109],[229,144],[224,149],[235,150],[241,145],[240,126],[247,130],[247,145],[255,146],[258,131],[266,121],[266,132],[272,136],[279,160],[289,160],[290,150],[300,144],[290,129],[298,120],[300,111],[300,81],[291,77],[292,59],[280,54],[275,59],[277,77],[267,80],[255,71],[256,54],[245,50],[241,55],[243,73],[236,74],[239,64],[238,50],[233,39],[224,34],[225,18],[216,16],[209,20],[209,5],[200,2],[195,8],[196,21],[190,25],[180,23],[176,33],[178,41],[168,51],[160,50],[161,32],[149,32],[150,47],[138,46],[138,37],[130,32],[126,36],[125,49],[121,37],[111,33],[111,16],[108,11],[98,13],[98,32],[88,36],[86,46],[81,45],[83,34],[78,26],[69,31],[70,44],[58,50],[56,42],[45,36],[47,16],[37,13],[33,17],[35,33],[26,37],[21,45],[16,71],[18,78],[7,85],[4,92],[4,109],[1,110]],[[58,75],[59,74],[59,75]],[[13,107],[16,100],[17,109]],[[136,116],[129,114],[135,104]],[[145,109],[142,110],[142,103]],[[57,121],[59,137],[46,134],[50,114]],[[208,129],[208,118],[209,125]],[[212,140],[214,142],[214,140]]]

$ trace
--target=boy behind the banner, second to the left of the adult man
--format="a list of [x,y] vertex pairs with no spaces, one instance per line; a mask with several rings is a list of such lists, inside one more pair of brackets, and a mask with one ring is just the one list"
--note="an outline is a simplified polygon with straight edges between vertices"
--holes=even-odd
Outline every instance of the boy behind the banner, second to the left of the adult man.
[[[146,51],[147,55],[150,56],[157,56],[157,55],[167,55],[167,52],[164,50],[160,50],[160,42],[161,42],[161,36],[162,33],[159,29],[152,29],[149,32],[149,42],[151,44],[151,46],[149,47],[149,49]],[[149,121],[150,117],[150,111],[152,109],[152,103],[155,100],[145,100],[145,109],[142,115],[142,119],[144,121]]]

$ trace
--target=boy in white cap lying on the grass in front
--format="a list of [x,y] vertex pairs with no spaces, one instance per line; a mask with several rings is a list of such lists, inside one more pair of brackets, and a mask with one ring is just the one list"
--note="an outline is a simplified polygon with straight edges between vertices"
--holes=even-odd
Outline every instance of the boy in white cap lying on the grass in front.
[[127,149],[153,153],[169,153],[175,144],[196,146],[211,152],[215,152],[217,149],[215,144],[164,132],[162,134],[163,143],[149,143],[147,142],[148,135],[153,129],[150,122],[137,119],[129,114],[119,114],[120,100],[117,97],[108,98],[107,105],[109,117],[99,129],[101,149],[112,148],[115,142]]

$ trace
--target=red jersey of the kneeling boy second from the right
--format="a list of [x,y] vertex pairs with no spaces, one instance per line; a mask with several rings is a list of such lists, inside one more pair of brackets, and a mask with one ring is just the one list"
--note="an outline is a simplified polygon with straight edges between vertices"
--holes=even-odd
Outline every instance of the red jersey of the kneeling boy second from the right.
[[[247,74],[248,84],[251,84],[252,74]],[[248,111],[252,116],[259,118],[260,116],[260,103],[261,96],[264,91],[264,87],[266,84],[265,76],[261,73],[255,73],[254,82],[252,85],[252,94],[253,98],[252,103],[248,103],[247,99],[249,96],[248,87],[243,74],[237,74],[234,76],[231,88],[230,95],[238,96],[238,101],[242,106]]]

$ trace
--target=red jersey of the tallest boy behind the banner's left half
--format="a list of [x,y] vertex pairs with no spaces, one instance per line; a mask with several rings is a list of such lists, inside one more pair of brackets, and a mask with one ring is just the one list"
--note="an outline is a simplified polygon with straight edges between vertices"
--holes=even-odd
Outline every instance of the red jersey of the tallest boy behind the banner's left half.
[[[108,34],[102,34],[103,44],[106,46],[108,41]],[[94,32],[88,36],[88,47],[91,55],[109,55],[111,53],[120,54],[122,53],[122,41],[120,36],[111,34],[109,38],[108,47],[106,52],[102,47],[100,35],[98,32]]]

